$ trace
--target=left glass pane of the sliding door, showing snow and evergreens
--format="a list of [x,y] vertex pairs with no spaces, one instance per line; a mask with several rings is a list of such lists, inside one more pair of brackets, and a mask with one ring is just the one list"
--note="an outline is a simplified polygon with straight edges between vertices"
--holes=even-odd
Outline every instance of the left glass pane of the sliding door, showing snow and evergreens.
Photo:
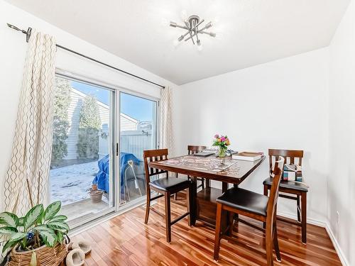
[[115,98],[86,82],[56,77],[55,85],[50,201],[62,201],[62,214],[76,225],[114,207]]

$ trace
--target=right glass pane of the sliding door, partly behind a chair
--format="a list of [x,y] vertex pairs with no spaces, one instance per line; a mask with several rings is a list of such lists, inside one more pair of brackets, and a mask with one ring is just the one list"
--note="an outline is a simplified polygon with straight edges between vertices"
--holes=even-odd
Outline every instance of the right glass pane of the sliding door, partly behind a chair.
[[146,195],[143,150],[157,145],[157,101],[120,93],[120,204]]

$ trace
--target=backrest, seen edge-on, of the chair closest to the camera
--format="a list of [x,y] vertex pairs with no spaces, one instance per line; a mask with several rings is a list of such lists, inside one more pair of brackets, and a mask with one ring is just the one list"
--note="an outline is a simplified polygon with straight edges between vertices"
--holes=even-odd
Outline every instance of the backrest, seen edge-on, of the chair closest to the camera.
[[278,160],[275,162],[275,167],[273,168],[273,174],[275,177],[273,178],[273,184],[271,185],[270,195],[268,198],[268,208],[267,214],[273,217],[275,212],[275,206],[278,202],[278,188],[280,187],[281,177],[283,175],[283,165],[285,164],[285,159],[283,157],[278,157]]

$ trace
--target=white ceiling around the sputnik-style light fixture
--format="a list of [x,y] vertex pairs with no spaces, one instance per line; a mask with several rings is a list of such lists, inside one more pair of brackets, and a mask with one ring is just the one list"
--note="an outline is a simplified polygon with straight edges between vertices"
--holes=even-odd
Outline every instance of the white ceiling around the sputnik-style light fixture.
[[[185,84],[329,45],[349,0],[7,0],[63,30],[160,77]],[[163,21],[180,12],[212,21],[177,48],[181,35]]]

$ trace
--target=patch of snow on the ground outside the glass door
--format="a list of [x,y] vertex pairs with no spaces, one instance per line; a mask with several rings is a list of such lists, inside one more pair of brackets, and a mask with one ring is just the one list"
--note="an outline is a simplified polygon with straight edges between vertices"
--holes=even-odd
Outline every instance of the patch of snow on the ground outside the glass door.
[[92,180],[99,172],[97,161],[50,170],[50,199],[62,205],[89,198]]

